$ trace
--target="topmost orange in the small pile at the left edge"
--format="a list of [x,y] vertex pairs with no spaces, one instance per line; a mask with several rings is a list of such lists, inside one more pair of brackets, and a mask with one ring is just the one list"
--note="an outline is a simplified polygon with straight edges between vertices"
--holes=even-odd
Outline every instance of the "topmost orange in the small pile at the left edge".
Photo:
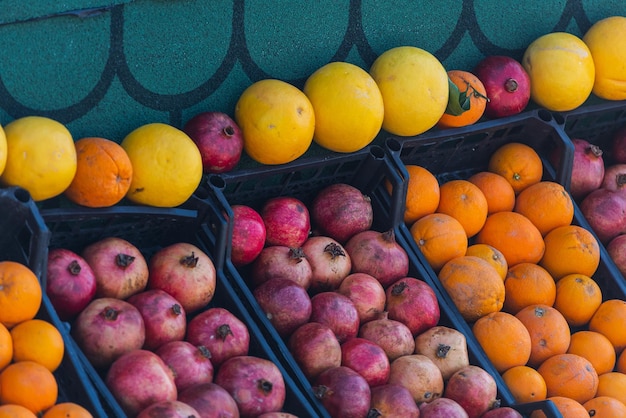
[[0,261],[0,322],[12,328],[33,319],[41,306],[41,285],[31,269],[14,261]]

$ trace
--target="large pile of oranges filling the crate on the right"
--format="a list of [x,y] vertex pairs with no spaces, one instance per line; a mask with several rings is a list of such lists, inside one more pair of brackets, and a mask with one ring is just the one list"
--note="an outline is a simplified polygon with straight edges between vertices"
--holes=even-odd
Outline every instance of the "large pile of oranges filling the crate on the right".
[[600,245],[539,155],[507,143],[441,185],[406,168],[411,235],[515,400],[626,416],[626,301],[603,297]]

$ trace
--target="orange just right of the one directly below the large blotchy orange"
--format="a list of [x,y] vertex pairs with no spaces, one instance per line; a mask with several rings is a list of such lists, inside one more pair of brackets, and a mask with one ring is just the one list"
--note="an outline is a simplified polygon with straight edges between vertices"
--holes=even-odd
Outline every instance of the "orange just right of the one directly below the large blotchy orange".
[[532,347],[529,366],[537,367],[544,360],[567,352],[571,339],[570,329],[559,311],[547,305],[530,305],[515,316],[522,321],[530,334]]

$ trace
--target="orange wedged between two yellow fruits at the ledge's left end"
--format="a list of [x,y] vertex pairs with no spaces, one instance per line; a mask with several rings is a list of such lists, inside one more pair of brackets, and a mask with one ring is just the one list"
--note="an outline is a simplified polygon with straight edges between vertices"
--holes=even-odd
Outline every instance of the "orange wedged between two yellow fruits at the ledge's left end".
[[76,175],[65,196],[90,208],[113,206],[124,198],[133,167],[121,145],[105,138],[76,141]]

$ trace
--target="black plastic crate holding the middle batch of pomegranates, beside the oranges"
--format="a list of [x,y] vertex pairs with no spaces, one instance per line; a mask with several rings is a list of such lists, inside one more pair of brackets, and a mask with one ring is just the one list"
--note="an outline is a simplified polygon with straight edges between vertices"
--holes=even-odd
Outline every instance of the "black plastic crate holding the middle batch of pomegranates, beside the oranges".
[[[397,167],[389,158],[384,157],[383,150],[373,146],[366,152],[346,155],[337,159],[307,161],[259,171],[250,170],[243,173],[233,172],[212,176],[209,178],[209,183],[216,198],[223,201],[224,206],[230,207],[234,204],[245,204],[257,210],[270,197],[292,196],[308,204],[317,192],[325,186],[339,182],[351,184],[372,198],[374,209],[372,229],[378,231],[393,229],[398,242],[407,249],[408,243],[401,233],[406,182],[404,181],[405,177],[399,176],[399,174]],[[385,181],[389,181],[392,185],[391,195],[384,186]],[[432,276],[427,273],[417,258],[411,255],[410,251],[407,252],[409,253],[411,265],[409,275],[427,282],[437,294],[441,311],[440,324],[458,329],[465,335],[469,335],[468,332],[471,333],[471,330],[460,317],[454,305],[451,305],[451,300],[440,293]],[[239,270],[235,268],[229,256],[225,259],[225,266],[225,274],[228,275],[229,280],[235,283],[242,295],[242,299],[248,303],[251,312],[256,314],[256,320],[259,322],[261,330],[265,333],[268,341],[271,342],[273,349],[280,353],[285,364],[289,365],[295,380],[300,384],[302,390],[310,394],[312,402],[319,408],[320,415],[328,416],[328,412],[313,396],[312,383],[302,373],[289,352],[286,341],[278,334],[256,302],[252,289],[250,289],[243,276],[245,275],[245,268]],[[483,367],[493,374],[491,363],[489,363],[480,347],[478,347],[480,350],[476,349],[475,346],[477,344],[475,340],[472,343],[471,339],[468,339],[471,363]],[[503,403],[507,405],[512,404],[511,395],[506,396],[506,393],[499,393],[501,398],[503,395]],[[514,407],[521,408],[519,410],[523,413],[542,409],[549,417],[559,416],[552,402],[544,401],[532,406]]]

